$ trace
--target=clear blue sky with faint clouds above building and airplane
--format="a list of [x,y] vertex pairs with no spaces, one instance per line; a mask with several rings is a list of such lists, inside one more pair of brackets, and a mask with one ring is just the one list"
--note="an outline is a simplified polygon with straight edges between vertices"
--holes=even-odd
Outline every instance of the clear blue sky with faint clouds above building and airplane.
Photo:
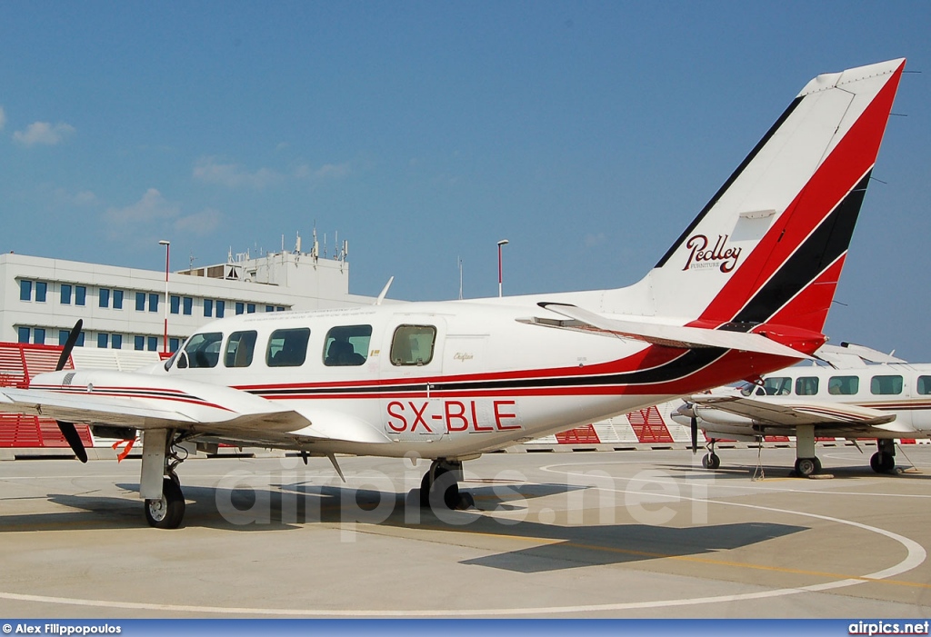
[[639,279],[817,73],[909,59],[827,332],[931,361],[931,3],[0,4],[0,249],[349,241],[350,289]]

